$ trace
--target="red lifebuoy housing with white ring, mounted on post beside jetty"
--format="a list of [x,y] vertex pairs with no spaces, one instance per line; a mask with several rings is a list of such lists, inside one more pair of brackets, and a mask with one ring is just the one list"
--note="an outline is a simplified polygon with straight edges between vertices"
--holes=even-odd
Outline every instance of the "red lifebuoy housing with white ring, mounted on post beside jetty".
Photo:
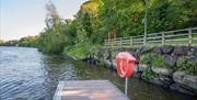
[[116,69],[121,78],[129,78],[134,74],[136,58],[127,52],[116,55]]

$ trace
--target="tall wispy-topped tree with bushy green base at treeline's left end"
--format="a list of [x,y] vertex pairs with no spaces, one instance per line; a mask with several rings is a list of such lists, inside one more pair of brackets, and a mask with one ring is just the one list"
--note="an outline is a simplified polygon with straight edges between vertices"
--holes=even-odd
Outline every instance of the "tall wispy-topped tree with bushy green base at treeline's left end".
[[61,21],[56,7],[49,2],[46,4],[47,15],[44,32],[39,34],[36,47],[44,53],[60,54],[65,46],[72,45],[73,33],[70,24],[71,20]]

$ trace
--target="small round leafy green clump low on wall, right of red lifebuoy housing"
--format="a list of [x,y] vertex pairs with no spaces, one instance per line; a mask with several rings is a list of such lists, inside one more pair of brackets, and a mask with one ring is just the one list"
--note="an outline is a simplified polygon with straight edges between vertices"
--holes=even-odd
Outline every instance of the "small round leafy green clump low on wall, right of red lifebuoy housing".
[[141,77],[151,80],[155,77],[155,74],[151,69],[146,69]]

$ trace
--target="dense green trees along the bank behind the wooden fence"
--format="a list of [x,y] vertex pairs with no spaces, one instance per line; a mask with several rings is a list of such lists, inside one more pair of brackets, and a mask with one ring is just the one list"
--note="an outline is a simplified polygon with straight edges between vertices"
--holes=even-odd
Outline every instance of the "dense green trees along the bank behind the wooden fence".
[[[197,0],[147,1],[148,33],[197,26]],[[46,11],[46,27],[34,42],[44,53],[84,55],[107,37],[143,34],[144,0],[88,0],[73,20],[61,19],[51,2]]]

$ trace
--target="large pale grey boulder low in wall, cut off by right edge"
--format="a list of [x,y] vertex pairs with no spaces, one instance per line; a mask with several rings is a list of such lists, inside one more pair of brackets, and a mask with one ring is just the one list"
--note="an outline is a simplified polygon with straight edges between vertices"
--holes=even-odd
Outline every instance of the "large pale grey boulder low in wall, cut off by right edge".
[[197,76],[186,75],[185,71],[175,71],[173,80],[197,90]]

